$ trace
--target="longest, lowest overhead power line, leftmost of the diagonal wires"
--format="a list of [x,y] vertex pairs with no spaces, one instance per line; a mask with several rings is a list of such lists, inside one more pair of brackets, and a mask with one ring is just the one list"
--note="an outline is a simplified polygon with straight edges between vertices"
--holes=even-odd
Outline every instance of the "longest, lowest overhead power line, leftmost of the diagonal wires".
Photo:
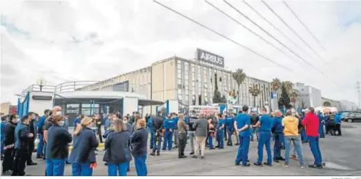
[[[211,31],[211,32],[219,35],[220,37],[223,37],[224,39],[227,39],[228,41],[233,42],[233,44],[236,44],[237,46],[240,46],[240,47],[242,47],[242,48],[250,51],[251,53],[254,53],[255,55],[258,55],[258,56],[262,57],[263,59],[266,59],[267,61],[269,61],[269,62],[271,62],[271,63],[273,63],[273,64],[276,64],[277,66],[280,66],[281,68],[284,68],[285,70],[288,70],[288,71],[291,72],[291,73],[295,73],[295,72],[294,72],[293,70],[291,70],[290,68],[286,68],[286,66],[283,66],[282,64],[279,64],[279,63],[273,61],[273,59],[270,59],[269,57],[265,57],[264,55],[262,55],[262,54],[260,54],[260,53],[257,53],[255,50],[252,50],[251,48],[248,48],[248,47],[246,47],[246,46],[243,46],[242,44],[238,43],[237,41],[234,41],[233,39],[230,39],[230,38],[226,37],[225,35],[222,35],[221,33],[217,32],[217,31],[215,31],[215,30],[213,30],[213,29],[211,29],[211,28],[208,28],[207,26],[204,26],[202,23],[199,23],[199,22],[195,21],[194,19],[191,19],[190,17],[186,17],[186,15],[183,15],[182,13],[177,12],[176,10],[173,10],[172,8],[169,8],[168,6],[165,6],[164,4],[159,3],[158,1],[155,1],[155,0],[153,0],[153,1],[154,1],[155,3],[157,3],[159,6],[162,6],[163,8],[166,8],[166,9],[172,11],[172,12],[175,12],[177,15],[180,15],[180,16],[188,19],[189,21],[192,21],[193,23],[197,23],[199,26],[202,26],[202,28],[206,28],[207,30],[209,30],[209,31]],[[296,75],[299,75],[299,74],[297,74],[297,73],[295,73],[295,74],[296,74]]]

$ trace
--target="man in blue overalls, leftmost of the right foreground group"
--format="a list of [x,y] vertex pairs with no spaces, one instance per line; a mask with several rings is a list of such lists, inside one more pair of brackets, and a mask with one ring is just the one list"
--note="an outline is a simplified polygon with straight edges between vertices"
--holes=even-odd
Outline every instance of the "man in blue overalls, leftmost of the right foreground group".
[[[251,142],[251,117],[247,114],[248,106],[242,107],[242,113],[238,113],[235,119],[236,132],[240,135],[240,147],[238,147],[237,156],[235,158],[235,165],[249,167],[248,150],[249,142]],[[241,111],[240,111],[241,112]]]

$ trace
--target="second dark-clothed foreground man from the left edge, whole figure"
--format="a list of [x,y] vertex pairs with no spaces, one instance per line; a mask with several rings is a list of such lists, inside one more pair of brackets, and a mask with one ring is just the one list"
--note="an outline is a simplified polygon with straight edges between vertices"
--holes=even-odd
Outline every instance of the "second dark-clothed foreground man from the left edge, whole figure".
[[12,176],[25,176],[26,160],[28,159],[29,140],[34,138],[30,132],[29,117],[21,117],[21,123],[15,128],[15,159],[12,165]]

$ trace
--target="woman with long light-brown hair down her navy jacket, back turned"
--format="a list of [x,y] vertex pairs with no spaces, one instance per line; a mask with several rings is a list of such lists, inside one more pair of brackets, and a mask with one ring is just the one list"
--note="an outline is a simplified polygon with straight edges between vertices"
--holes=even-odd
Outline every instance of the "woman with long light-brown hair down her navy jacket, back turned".
[[130,133],[126,129],[123,120],[117,116],[113,120],[114,132],[106,137],[103,161],[108,165],[108,176],[126,176],[130,156]]

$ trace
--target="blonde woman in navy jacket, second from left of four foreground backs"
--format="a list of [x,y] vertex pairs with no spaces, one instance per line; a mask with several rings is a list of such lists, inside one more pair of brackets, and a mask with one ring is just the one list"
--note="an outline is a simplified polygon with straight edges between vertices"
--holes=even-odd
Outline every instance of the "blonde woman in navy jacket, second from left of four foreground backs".
[[92,176],[92,168],[97,166],[95,149],[99,142],[91,126],[92,118],[84,117],[75,129],[69,157],[69,162],[72,163],[72,176]]

